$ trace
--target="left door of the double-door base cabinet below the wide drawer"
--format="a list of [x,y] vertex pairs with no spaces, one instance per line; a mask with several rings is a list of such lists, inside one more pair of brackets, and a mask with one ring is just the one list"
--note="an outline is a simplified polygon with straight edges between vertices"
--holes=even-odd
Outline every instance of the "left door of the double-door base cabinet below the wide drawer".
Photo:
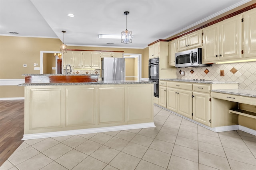
[[178,113],[178,90],[167,88],[167,109]]

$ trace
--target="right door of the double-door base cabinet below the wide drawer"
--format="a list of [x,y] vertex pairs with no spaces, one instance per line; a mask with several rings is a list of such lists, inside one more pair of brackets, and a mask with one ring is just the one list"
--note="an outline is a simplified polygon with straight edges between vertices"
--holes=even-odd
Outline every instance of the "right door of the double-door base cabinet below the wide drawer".
[[192,92],[178,90],[178,113],[192,119]]

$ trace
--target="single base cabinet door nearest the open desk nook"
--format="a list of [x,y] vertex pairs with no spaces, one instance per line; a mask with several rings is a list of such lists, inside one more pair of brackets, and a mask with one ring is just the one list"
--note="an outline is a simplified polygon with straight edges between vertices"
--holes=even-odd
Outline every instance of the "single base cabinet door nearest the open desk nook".
[[210,126],[210,95],[193,92],[193,119]]

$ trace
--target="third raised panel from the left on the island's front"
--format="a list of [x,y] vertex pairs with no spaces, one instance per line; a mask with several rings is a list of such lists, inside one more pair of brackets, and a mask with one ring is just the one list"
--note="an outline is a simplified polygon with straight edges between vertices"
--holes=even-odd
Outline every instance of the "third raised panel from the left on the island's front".
[[124,87],[98,88],[98,124],[124,123]]

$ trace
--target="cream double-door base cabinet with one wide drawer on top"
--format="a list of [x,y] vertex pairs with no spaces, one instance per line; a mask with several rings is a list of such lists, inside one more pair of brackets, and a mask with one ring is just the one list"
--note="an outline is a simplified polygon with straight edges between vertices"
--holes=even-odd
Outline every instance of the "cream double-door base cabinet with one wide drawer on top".
[[167,82],[167,109],[192,119],[192,84]]

